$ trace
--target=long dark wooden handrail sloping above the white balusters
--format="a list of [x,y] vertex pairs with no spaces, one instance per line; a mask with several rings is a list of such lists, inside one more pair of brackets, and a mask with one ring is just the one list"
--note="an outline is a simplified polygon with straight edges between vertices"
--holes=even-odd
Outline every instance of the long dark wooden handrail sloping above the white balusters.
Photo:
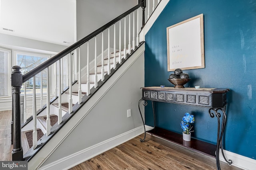
[[81,45],[83,45],[84,43],[86,43],[87,41],[89,41],[90,39],[92,39],[93,37],[95,37],[96,35],[101,33],[102,31],[104,31],[105,29],[107,29],[108,27],[110,27],[111,25],[113,25],[114,23],[116,23],[117,21],[121,20],[122,18],[124,18],[125,16],[127,16],[128,14],[130,14],[131,12],[133,12],[134,10],[136,10],[136,9],[138,9],[140,7],[141,7],[141,4],[138,4],[138,5],[134,6],[130,10],[124,12],[124,14],[121,14],[120,16],[115,18],[114,20],[106,23],[105,25],[103,25],[102,27],[97,29],[96,31],[93,31],[92,33],[90,33],[86,37],[80,39],[79,41],[77,41],[73,45],[69,46],[68,48],[64,49],[60,53],[56,54],[54,57],[52,57],[52,58],[46,60],[44,63],[36,66],[35,68],[33,68],[32,70],[30,70],[29,72],[27,72],[26,74],[24,74],[22,76],[23,77],[22,78],[22,82],[23,83],[26,82],[27,80],[29,80],[30,78],[32,78],[33,76],[35,76],[36,74],[38,74],[39,72],[41,72],[42,70],[47,68],[48,66],[54,64],[56,61],[58,61],[59,59],[61,59],[64,56],[66,56],[68,53],[70,53],[73,50],[77,49],[78,47],[80,47]]

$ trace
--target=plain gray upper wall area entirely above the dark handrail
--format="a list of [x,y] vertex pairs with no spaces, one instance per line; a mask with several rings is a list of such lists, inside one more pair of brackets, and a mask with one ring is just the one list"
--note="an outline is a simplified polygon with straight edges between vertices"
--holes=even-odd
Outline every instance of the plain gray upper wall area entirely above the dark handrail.
[[138,0],[76,0],[77,40],[138,4]]

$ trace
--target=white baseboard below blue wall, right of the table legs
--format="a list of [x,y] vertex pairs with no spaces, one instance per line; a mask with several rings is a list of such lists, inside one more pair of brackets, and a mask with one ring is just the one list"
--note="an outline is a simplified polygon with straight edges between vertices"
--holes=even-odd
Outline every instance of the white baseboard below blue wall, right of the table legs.
[[[238,168],[242,168],[243,170],[255,170],[256,160],[254,160],[252,158],[248,158],[246,156],[242,156],[240,154],[230,152],[228,150],[223,150],[223,151],[224,151],[226,159],[232,160],[231,166],[236,166]],[[222,156],[221,150],[220,150],[220,160],[223,162],[226,162],[224,160],[224,157]]]

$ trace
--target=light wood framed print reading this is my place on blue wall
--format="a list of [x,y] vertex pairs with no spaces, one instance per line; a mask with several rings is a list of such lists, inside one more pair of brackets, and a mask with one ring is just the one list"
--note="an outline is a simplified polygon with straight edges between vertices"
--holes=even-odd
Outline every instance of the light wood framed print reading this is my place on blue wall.
[[166,28],[168,71],[205,68],[203,14]]

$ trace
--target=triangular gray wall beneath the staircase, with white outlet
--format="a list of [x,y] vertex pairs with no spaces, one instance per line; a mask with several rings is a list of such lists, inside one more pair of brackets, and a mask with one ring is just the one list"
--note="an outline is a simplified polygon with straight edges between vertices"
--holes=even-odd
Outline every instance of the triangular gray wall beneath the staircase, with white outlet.
[[[141,98],[142,86],[144,53],[124,72],[42,166],[141,126],[138,101]],[[131,109],[131,117],[127,117],[127,109]]]

